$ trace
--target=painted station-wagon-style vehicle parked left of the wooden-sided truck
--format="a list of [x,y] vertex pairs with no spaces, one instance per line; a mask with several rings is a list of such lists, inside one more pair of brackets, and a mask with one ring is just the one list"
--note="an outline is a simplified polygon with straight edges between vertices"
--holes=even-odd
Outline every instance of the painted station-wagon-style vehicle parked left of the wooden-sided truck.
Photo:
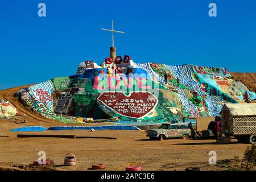
[[146,137],[149,137],[150,140],[164,140],[167,138],[188,139],[191,137],[191,129],[189,129],[188,123],[163,123],[159,129],[147,130]]

